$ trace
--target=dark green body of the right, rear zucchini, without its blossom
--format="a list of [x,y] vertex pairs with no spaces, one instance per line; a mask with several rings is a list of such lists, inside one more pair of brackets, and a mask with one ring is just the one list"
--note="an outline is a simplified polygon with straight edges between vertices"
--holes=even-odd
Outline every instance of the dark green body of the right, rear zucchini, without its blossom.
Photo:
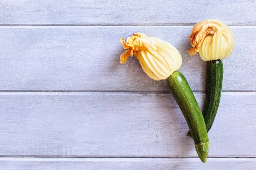
[[[220,59],[207,62],[206,74],[206,99],[204,102],[204,122],[207,132],[211,129],[214,122],[218,106],[221,100],[221,89],[223,79],[223,64]],[[190,131],[187,136],[191,136]],[[191,136],[192,137],[192,136]]]

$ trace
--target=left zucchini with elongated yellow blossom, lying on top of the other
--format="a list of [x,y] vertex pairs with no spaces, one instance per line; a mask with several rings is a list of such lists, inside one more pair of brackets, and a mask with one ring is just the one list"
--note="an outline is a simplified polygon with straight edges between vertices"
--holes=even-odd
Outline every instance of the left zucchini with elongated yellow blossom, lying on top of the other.
[[206,162],[209,150],[207,129],[186,78],[177,71],[182,62],[179,51],[168,42],[141,33],[134,33],[126,42],[123,38],[120,41],[126,49],[120,56],[121,64],[134,55],[148,77],[154,80],[166,79],[166,84],[192,132],[198,156],[201,161]]

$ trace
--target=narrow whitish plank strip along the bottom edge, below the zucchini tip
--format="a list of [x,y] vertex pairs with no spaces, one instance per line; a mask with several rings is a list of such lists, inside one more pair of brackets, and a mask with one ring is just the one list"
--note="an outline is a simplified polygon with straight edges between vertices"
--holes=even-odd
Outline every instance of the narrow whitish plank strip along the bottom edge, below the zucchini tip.
[[256,158],[0,158],[0,170],[255,170]]

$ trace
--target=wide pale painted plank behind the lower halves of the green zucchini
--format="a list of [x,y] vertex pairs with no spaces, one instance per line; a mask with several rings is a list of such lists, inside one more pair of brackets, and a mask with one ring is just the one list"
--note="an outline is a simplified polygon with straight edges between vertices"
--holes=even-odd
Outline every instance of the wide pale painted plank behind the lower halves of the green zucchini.
[[[209,156],[256,156],[255,97],[222,94]],[[1,93],[0,113],[0,156],[197,156],[168,93]]]

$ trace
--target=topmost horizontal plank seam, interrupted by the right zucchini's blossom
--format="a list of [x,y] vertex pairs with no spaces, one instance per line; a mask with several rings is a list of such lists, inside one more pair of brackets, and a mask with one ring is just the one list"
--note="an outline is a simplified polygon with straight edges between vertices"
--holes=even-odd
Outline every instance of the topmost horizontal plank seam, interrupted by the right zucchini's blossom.
[[[0,24],[0,27],[191,27],[196,23],[189,24]],[[244,25],[244,24],[229,24],[231,27],[252,27],[255,28],[256,25]]]

